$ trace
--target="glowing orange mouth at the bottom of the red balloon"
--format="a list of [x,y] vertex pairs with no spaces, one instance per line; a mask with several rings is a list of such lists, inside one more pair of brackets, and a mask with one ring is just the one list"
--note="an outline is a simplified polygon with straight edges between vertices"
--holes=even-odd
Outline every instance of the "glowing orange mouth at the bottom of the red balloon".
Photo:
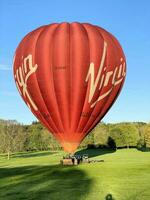
[[79,146],[78,142],[62,142],[63,149],[67,153],[74,153]]

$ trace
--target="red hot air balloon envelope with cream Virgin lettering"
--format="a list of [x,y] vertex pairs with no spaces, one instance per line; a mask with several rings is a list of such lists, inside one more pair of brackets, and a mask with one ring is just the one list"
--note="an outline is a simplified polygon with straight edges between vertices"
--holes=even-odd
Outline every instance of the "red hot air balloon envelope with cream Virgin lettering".
[[125,75],[119,42],[87,23],[42,26],[24,37],[14,56],[22,98],[67,152],[104,117]]

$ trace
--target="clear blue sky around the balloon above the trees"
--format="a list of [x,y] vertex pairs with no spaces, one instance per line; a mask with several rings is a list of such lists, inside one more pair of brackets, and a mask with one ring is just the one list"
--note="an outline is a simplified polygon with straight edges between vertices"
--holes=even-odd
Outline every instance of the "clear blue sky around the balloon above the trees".
[[25,1],[2,0],[0,119],[17,120],[23,124],[31,124],[37,120],[21,99],[13,78],[13,56],[22,38],[45,24],[80,21],[98,25],[112,33],[120,42],[126,56],[125,84],[117,101],[102,121],[104,123],[150,122],[150,93],[148,92],[150,27],[147,26],[150,19],[149,6],[149,1],[142,3],[135,0],[132,2],[118,0],[115,3],[110,0],[109,4],[98,0],[88,3],[85,0],[82,2],[32,0],[30,6]]

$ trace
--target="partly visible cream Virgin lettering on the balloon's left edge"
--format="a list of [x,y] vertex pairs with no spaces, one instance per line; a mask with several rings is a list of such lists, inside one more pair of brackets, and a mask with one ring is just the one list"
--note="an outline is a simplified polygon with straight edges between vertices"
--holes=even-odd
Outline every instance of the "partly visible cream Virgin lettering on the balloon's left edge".
[[33,109],[36,111],[38,110],[38,108],[35,105],[34,101],[32,100],[28,92],[27,82],[28,82],[28,79],[31,77],[31,75],[34,72],[36,72],[37,68],[38,68],[37,64],[33,66],[32,55],[29,54],[27,57],[23,59],[22,65],[18,67],[15,73],[15,82],[19,90],[19,93],[23,95],[23,97],[27,98],[26,102],[27,102],[28,107],[31,108],[32,106]]

